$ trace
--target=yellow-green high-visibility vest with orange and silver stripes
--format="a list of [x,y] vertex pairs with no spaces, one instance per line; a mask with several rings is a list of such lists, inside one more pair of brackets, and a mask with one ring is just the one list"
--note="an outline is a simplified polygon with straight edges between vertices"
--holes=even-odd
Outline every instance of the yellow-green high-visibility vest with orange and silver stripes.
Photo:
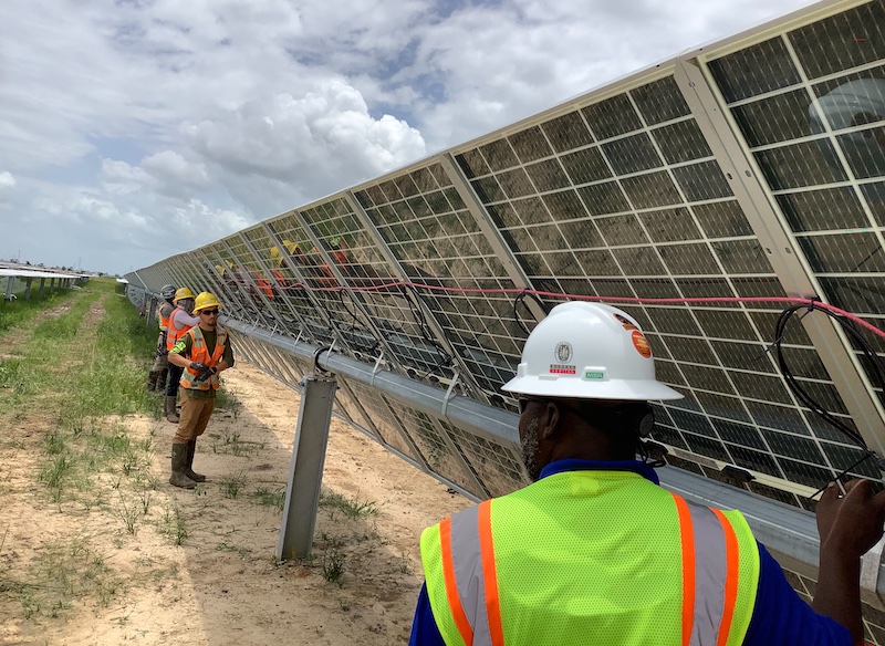
[[447,645],[740,646],[759,549],[738,511],[628,471],[565,471],[421,534]]

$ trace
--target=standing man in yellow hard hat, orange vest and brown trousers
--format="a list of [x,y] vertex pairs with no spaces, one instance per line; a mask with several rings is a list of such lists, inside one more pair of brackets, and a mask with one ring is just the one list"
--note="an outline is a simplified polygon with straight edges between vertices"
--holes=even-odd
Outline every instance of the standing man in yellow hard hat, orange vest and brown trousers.
[[181,373],[181,420],[173,439],[169,483],[194,489],[206,476],[194,471],[197,438],[204,434],[215,410],[219,374],[233,366],[233,350],[227,330],[218,325],[221,303],[215,294],[197,294],[194,312],[199,324],[178,338],[169,353],[169,363]]

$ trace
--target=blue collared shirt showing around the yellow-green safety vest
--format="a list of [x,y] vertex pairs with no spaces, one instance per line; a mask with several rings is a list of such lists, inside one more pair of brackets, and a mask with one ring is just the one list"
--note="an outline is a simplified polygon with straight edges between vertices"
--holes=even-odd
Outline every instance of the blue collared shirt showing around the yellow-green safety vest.
[[[660,483],[654,469],[638,460],[556,460],[543,468],[541,478],[563,471],[633,471],[655,485]],[[787,582],[778,562],[761,543],[757,544],[759,587],[743,646],[853,646],[848,629],[830,617],[819,615],[802,601]],[[408,643],[409,646],[446,646],[434,619],[426,583],[418,596]]]

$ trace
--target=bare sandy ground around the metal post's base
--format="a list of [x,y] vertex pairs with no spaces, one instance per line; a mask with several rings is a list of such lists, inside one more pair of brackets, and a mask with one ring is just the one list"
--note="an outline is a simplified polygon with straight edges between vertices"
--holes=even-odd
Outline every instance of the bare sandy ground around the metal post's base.
[[165,420],[115,420],[149,441],[138,483],[121,467],[62,502],[37,477],[58,414],[0,430],[0,644],[408,640],[420,531],[469,502],[333,420],[323,486],[376,513],[321,508],[312,559],[278,563],[267,502],[285,486],[299,397],[244,362],[225,377],[239,406],[198,442],[196,491],[167,483]]

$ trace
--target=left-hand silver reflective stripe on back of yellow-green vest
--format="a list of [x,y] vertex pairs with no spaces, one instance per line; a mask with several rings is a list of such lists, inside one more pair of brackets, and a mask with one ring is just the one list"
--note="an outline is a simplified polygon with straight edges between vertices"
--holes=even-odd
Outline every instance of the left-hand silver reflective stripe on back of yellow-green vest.
[[479,507],[465,509],[451,517],[451,561],[458,597],[473,628],[473,646],[491,646],[482,577],[482,549],[479,543]]

